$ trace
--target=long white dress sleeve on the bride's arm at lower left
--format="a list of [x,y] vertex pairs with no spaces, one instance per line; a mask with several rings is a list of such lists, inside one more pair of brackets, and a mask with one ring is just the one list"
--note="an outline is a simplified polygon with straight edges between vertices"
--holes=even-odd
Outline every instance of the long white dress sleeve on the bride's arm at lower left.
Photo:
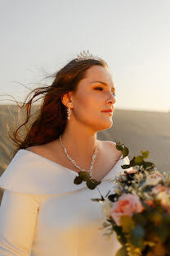
[[30,256],[38,207],[37,195],[4,190],[0,206],[0,256]]

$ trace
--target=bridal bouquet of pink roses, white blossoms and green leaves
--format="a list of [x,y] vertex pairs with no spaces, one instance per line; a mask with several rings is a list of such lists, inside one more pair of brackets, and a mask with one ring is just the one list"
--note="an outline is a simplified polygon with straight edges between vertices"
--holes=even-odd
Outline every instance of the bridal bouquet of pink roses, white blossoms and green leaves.
[[[123,157],[128,155],[123,144],[116,144],[116,148],[123,151]],[[170,255],[170,176],[159,173],[154,163],[146,162],[148,157],[149,151],[141,151],[141,155],[122,166],[131,168],[113,180],[114,194],[92,199],[101,203],[105,217],[101,229],[107,229],[104,235],[110,237],[115,231],[122,245],[116,256]],[[93,190],[101,183],[87,171],[78,174],[75,184],[86,181]]]

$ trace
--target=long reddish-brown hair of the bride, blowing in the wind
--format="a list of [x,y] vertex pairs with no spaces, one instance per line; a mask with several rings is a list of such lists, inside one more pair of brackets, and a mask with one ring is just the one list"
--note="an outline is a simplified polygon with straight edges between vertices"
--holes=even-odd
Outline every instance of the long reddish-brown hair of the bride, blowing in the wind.
[[[26,149],[33,145],[47,144],[60,137],[67,124],[67,107],[62,103],[61,97],[63,94],[69,93],[69,91],[76,92],[78,82],[85,78],[86,71],[95,65],[109,68],[107,63],[101,58],[81,60],[79,62],[77,59],[73,59],[62,67],[60,71],[48,76],[48,78],[53,79],[51,85],[38,87],[28,94],[21,106],[21,108],[26,107],[25,122],[16,130],[13,130],[12,135],[9,134],[8,130],[10,139],[16,144],[13,155],[19,149]],[[31,123],[28,129],[26,125],[31,117],[31,106],[34,103],[34,98],[39,95],[42,96],[40,111],[38,117]],[[29,97],[31,98],[26,102]],[[25,137],[21,139],[19,131],[23,128],[22,126],[25,126],[27,131]]]

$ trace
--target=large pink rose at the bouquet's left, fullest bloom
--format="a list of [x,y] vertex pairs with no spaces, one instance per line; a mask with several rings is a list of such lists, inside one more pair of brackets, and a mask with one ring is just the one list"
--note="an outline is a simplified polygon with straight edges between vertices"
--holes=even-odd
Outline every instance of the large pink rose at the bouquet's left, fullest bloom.
[[113,203],[110,209],[110,215],[114,222],[120,226],[121,216],[132,216],[134,213],[141,213],[144,210],[141,201],[136,194],[122,194],[119,200]]

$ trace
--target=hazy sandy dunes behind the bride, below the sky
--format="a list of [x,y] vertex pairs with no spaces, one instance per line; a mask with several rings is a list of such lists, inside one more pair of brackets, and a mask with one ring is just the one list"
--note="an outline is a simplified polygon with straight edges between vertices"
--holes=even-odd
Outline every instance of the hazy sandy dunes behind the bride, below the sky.
[[[38,107],[33,106],[32,112]],[[17,106],[0,105],[0,176],[11,162],[14,144],[7,135],[7,123],[10,130],[20,124],[23,110]],[[22,119],[23,120],[23,119]],[[142,112],[116,109],[113,126],[98,132],[97,138],[121,142],[128,146],[128,157],[132,159],[141,150],[150,151],[148,161],[154,162],[159,171],[170,171],[170,112]],[[0,194],[1,200],[2,194]]]

